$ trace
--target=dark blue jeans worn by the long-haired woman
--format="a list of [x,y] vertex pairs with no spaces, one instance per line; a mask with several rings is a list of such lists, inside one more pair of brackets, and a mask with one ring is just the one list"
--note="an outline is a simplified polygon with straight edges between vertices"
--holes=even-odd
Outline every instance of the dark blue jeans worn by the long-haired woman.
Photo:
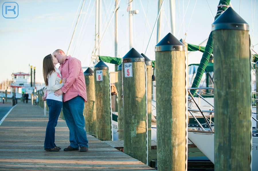
[[62,102],[57,100],[46,99],[46,103],[49,108],[48,110],[49,117],[48,117],[48,125],[46,127],[46,137],[45,137],[44,148],[54,148],[56,146],[55,127],[57,124],[59,114],[62,109]]

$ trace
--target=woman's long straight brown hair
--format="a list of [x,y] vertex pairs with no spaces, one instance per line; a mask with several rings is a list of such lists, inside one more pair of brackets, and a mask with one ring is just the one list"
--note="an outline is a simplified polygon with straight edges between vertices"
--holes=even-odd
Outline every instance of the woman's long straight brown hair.
[[43,59],[43,77],[44,77],[44,81],[46,86],[48,86],[48,74],[52,74],[52,72],[55,72],[55,67],[53,64],[53,59],[52,59],[52,55],[49,54],[47,56],[44,57]]

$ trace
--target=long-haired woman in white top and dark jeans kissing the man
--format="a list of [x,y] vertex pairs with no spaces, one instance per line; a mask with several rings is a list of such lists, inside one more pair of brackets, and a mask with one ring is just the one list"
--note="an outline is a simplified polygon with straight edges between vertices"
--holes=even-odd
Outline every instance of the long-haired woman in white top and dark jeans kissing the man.
[[51,54],[43,59],[43,76],[47,86],[47,95],[45,94],[44,98],[46,98],[49,108],[49,120],[44,143],[44,150],[46,151],[59,151],[61,149],[55,144],[55,126],[62,109],[63,96],[55,96],[54,92],[64,86],[66,78],[62,79],[60,71],[54,67],[56,62],[57,60]]

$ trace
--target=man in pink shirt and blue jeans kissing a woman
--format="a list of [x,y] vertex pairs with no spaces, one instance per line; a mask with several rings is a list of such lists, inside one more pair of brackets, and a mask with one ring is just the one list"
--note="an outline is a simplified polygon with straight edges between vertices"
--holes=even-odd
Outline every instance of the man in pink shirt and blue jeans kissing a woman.
[[88,151],[88,140],[83,117],[84,102],[87,101],[85,79],[81,68],[81,61],[65,55],[64,51],[57,49],[53,56],[60,63],[59,70],[62,78],[67,81],[64,86],[55,91],[56,96],[63,94],[63,114],[70,131],[70,145],[64,151]]

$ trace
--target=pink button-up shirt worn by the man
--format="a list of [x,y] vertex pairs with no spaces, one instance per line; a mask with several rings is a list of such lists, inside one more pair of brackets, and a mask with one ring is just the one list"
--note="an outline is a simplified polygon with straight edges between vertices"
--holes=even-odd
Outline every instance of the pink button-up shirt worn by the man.
[[59,70],[62,78],[66,77],[67,81],[61,88],[63,94],[63,101],[70,100],[76,96],[82,96],[87,101],[86,85],[81,68],[81,61],[69,55],[64,63],[60,64]]

